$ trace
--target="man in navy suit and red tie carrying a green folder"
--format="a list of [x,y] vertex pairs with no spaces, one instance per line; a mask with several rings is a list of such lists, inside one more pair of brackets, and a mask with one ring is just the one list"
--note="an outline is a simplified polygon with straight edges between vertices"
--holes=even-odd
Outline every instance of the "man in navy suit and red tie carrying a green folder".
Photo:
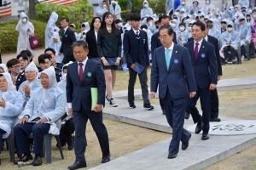
[[[73,54],[77,60],[67,68],[67,107],[75,125],[76,161],[69,169],[86,167],[85,127],[88,119],[96,132],[102,149],[102,163],[110,161],[108,132],[102,122],[102,107],[105,105],[106,84],[102,65],[87,58],[88,44],[73,42]],[[91,111],[91,88],[97,88],[96,105]]]

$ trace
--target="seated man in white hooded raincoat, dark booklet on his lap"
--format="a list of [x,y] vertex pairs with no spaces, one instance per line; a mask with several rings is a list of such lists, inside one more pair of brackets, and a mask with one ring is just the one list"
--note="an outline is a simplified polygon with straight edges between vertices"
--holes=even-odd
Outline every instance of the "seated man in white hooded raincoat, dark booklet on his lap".
[[42,88],[33,92],[22,112],[22,119],[14,127],[17,152],[24,154],[20,161],[32,160],[27,135],[32,133],[34,139],[33,166],[42,165],[41,152],[43,149],[44,134],[58,135],[61,127],[61,116],[65,114],[66,96],[61,88],[57,87],[55,69],[50,66],[41,72]]

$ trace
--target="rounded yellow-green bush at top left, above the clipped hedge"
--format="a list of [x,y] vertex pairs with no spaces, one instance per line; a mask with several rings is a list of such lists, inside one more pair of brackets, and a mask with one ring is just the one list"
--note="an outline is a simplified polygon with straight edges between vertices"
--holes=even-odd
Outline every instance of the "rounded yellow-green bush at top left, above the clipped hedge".
[[[88,0],[81,0],[71,5],[57,5],[55,3],[38,3],[36,5],[37,20],[47,23],[52,12],[59,15],[56,26],[61,26],[61,18],[67,17],[70,24],[73,23],[77,28],[85,21],[91,21],[93,6]],[[79,30],[78,30],[79,31]]]

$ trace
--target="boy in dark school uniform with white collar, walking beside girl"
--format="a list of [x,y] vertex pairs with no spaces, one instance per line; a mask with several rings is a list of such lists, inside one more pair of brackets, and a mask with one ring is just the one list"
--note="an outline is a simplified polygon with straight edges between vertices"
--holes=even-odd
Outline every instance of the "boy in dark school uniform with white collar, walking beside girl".
[[127,67],[129,68],[129,85],[128,85],[128,102],[130,108],[136,108],[134,104],[134,86],[137,78],[137,71],[133,69],[137,67],[136,62],[139,65],[143,65],[143,71],[138,74],[142,93],[144,108],[148,111],[153,110],[154,107],[150,105],[148,99],[148,76],[147,69],[149,68],[148,57],[148,36],[147,32],[139,30],[141,16],[139,14],[131,14],[130,16],[132,28],[130,31],[126,31],[124,35],[124,52],[127,60]]

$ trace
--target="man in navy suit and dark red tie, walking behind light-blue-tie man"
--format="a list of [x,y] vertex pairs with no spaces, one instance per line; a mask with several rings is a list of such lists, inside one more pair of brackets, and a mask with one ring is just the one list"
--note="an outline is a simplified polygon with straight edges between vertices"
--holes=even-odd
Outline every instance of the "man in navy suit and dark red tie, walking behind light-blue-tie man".
[[[197,94],[195,98],[187,100],[187,109],[193,120],[197,123],[195,133],[203,131],[202,140],[209,139],[211,90],[217,87],[217,59],[214,46],[207,42],[205,37],[206,26],[201,22],[192,25],[194,41],[187,42],[184,47],[189,49],[191,62],[195,73]],[[202,116],[196,108],[196,102],[200,98]]]

